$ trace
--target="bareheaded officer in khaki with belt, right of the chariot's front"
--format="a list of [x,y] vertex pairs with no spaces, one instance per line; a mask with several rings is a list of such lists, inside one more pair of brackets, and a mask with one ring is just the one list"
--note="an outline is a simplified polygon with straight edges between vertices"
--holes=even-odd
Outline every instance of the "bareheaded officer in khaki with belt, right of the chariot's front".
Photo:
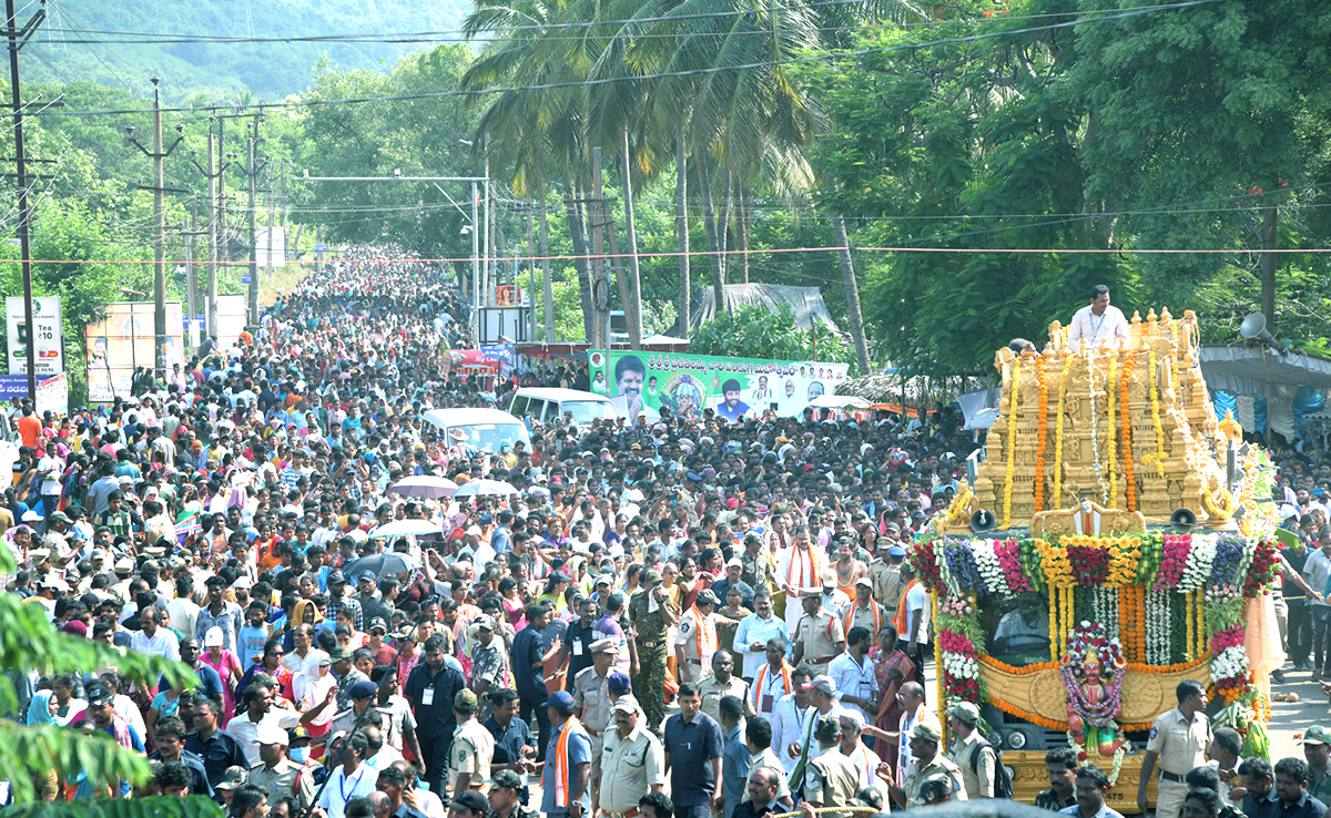
[[1146,785],[1159,762],[1159,797],[1155,801],[1157,818],[1178,818],[1187,798],[1183,777],[1193,767],[1206,763],[1206,748],[1211,746],[1211,721],[1206,717],[1206,689],[1187,678],[1178,684],[1174,694],[1178,708],[1162,713],[1151,725],[1142,759],[1142,781],[1137,785],[1137,806],[1146,811]]

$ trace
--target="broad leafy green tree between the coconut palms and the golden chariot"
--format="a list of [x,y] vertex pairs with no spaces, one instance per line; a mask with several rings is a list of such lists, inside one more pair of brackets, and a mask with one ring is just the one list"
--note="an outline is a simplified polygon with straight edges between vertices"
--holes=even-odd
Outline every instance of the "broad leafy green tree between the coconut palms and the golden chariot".
[[[980,4],[964,3],[948,19],[958,36],[986,20]],[[937,36],[885,32],[862,45]],[[1122,281],[1103,255],[988,251],[1105,246],[1085,219],[1038,215],[1082,204],[1079,112],[1063,98],[1049,41],[1018,39],[997,53],[990,41],[869,53],[815,65],[807,77],[835,122],[815,150],[815,165],[835,180],[816,192],[820,204],[852,217],[861,246],[954,251],[865,259],[868,319],[898,366],[982,371],[993,348],[1066,319],[1091,283]]]

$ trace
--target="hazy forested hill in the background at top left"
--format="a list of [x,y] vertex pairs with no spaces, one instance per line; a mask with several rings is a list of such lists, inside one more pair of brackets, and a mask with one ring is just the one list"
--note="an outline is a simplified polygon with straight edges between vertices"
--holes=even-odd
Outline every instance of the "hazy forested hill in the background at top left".
[[[278,98],[303,90],[325,53],[338,68],[387,70],[398,56],[438,43],[438,37],[430,43],[349,43],[338,36],[454,32],[470,9],[470,0],[48,0],[48,20],[33,37],[32,49],[24,49],[24,74],[56,82],[91,78],[138,93],[146,93],[149,77],[160,76],[164,94],[174,102],[196,94],[233,98],[245,90],[256,98]],[[182,35],[331,39],[161,43]],[[154,41],[140,41],[145,39]],[[89,40],[95,44],[80,44]]]

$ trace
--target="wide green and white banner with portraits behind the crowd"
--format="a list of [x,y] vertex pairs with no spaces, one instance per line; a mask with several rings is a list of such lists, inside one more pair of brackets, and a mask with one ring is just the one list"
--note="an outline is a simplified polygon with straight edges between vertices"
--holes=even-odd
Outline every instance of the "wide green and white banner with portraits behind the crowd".
[[[591,390],[631,419],[669,410],[699,418],[704,408],[727,420],[760,418],[768,410],[795,416],[847,379],[847,364],[816,360],[724,358],[687,352],[592,350]],[[646,407],[646,410],[643,408]]]

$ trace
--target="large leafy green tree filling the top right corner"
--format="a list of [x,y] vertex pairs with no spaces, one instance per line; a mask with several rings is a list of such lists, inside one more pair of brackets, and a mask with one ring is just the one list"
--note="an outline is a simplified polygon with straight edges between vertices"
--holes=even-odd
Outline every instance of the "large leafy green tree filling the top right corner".
[[1141,247],[1235,250],[1143,258],[1146,291],[1186,305],[1218,278],[1256,277],[1274,326],[1284,265],[1255,253],[1288,246],[1280,213],[1298,233],[1323,198],[1331,55],[1312,44],[1328,36],[1331,11],[1306,0],[1223,0],[1078,32],[1066,89],[1086,106],[1086,194],[1102,229]]

